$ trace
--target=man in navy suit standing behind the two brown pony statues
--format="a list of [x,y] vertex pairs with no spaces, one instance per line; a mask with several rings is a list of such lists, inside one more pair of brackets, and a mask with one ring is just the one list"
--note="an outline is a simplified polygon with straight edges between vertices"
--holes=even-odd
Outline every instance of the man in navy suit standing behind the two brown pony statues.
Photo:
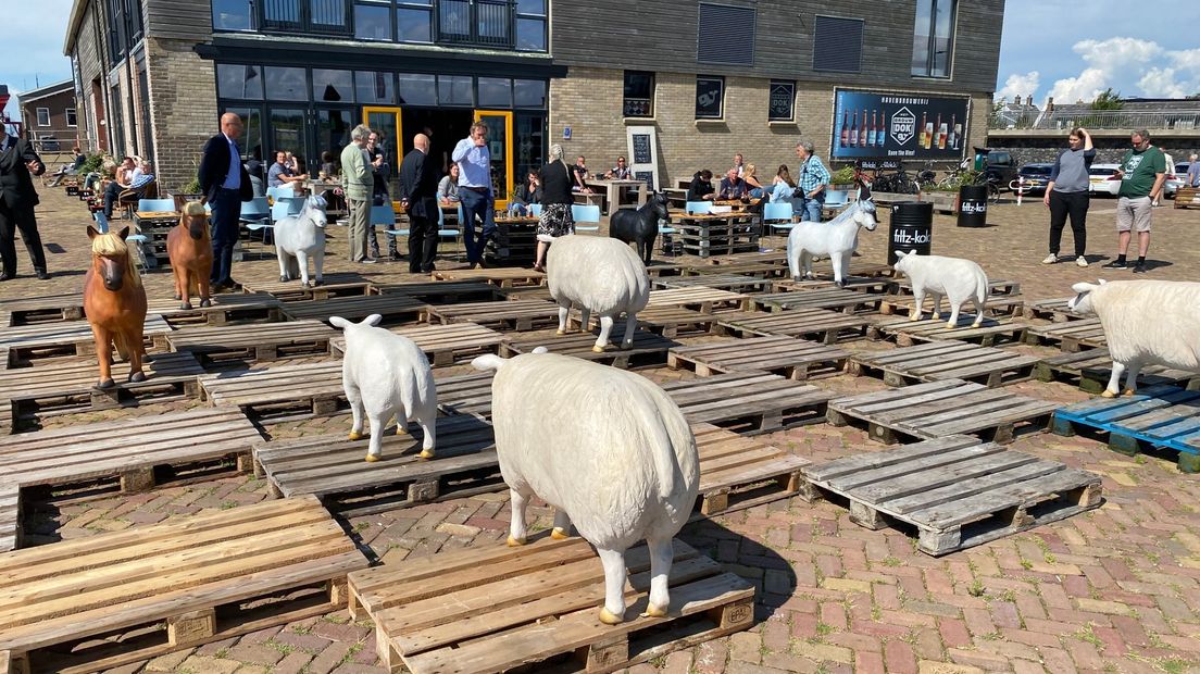
[[204,144],[200,168],[200,192],[212,206],[212,276],[214,291],[233,289],[233,247],[238,243],[238,221],[241,203],[254,197],[246,167],[241,166],[241,118],[236,113],[221,115],[221,133]]

